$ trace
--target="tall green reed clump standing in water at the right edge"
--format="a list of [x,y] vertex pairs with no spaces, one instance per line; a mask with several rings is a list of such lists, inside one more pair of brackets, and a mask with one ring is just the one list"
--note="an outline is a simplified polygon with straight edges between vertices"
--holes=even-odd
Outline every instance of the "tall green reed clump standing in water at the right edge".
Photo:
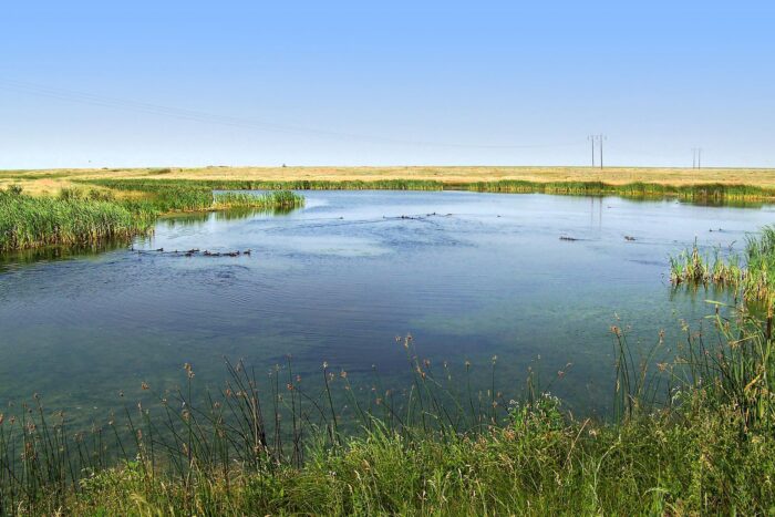
[[716,303],[713,323],[725,345],[706,347],[702,334],[693,335],[684,364],[691,383],[703,384],[713,403],[734,407],[744,426],[775,428],[775,283],[769,273],[775,267],[775,228],[748,236],[743,257],[723,258],[716,251],[711,260],[695,242],[691,251],[671,258],[674,285],[721,286],[733,291],[735,303],[741,301],[733,307]]

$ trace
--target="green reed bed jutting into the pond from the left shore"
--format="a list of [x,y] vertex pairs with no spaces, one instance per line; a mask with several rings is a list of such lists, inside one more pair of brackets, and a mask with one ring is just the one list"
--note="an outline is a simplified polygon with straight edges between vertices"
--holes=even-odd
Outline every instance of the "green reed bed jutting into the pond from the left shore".
[[227,208],[283,209],[303,197],[216,193],[197,186],[165,186],[136,196],[108,189],[65,188],[58,197],[28,196],[20,187],[0,190],[0,252],[49,245],[94,245],[148,234],[162,214]]

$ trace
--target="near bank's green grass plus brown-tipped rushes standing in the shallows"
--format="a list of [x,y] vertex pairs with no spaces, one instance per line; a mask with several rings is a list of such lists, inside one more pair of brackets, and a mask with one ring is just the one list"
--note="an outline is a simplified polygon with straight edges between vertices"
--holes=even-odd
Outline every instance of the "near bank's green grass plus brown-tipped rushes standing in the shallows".
[[[130,404],[74,433],[30,406],[0,416],[6,513],[49,515],[633,515],[765,514],[775,507],[773,342],[741,312],[655,374],[612,328],[609,422],[578,418],[528,375],[521,396],[472,392],[411,338],[407,390],[359,390],[322,365],[301,380],[228,365],[229,380]],[[713,344],[711,344],[713,343]],[[493,361],[495,368],[495,359]],[[143,386],[153,392],[153,386]],[[347,397],[338,405],[334,392]],[[660,402],[663,401],[663,402]],[[112,453],[111,453],[112,452]]]

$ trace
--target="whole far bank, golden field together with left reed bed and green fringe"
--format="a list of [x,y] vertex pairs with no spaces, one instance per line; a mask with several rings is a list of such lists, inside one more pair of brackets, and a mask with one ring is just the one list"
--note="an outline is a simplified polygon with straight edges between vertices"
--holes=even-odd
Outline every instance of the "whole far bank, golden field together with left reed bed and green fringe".
[[[128,239],[151,232],[153,223],[164,214],[229,208],[281,210],[301,206],[303,197],[291,190],[454,189],[478,193],[614,195],[633,199],[675,198],[701,204],[775,200],[775,170],[768,169],[723,169],[715,170],[716,175],[712,174],[713,170],[703,170],[702,174],[694,172],[694,180],[684,177],[686,170],[675,169],[676,177],[683,182],[675,184],[624,182],[628,178],[663,178],[671,169],[613,169],[607,170],[603,176],[603,173],[585,168],[526,168],[519,173],[526,179],[493,179],[504,174],[514,176],[517,168],[505,168],[504,174],[498,168],[482,167],[472,167],[471,170],[455,167],[328,170],[333,179],[324,178],[322,172],[318,173],[317,179],[281,179],[299,175],[300,172],[314,175],[314,169],[296,168],[291,169],[294,173],[282,176],[278,169],[258,170],[264,170],[270,178],[255,178],[252,169],[228,167],[0,172],[0,185],[6,185],[0,190],[0,252],[50,245],[83,246],[99,240]],[[279,170],[285,172],[282,168]],[[616,170],[620,176],[616,176]],[[390,177],[402,172],[415,177]],[[479,176],[475,172],[479,172]],[[205,177],[197,178],[197,175]],[[558,176],[578,179],[546,179]],[[539,179],[530,179],[534,177]],[[606,180],[590,179],[596,177]],[[715,177],[720,182],[702,183]],[[731,183],[745,178],[757,183]],[[229,190],[269,193],[255,196]]]

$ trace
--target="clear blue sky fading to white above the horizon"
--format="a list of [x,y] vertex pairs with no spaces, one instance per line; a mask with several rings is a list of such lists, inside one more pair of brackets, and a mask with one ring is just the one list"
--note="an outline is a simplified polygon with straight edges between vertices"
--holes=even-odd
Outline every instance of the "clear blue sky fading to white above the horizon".
[[590,165],[590,134],[607,165],[775,167],[774,27],[744,0],[3,0],[0,168]]

